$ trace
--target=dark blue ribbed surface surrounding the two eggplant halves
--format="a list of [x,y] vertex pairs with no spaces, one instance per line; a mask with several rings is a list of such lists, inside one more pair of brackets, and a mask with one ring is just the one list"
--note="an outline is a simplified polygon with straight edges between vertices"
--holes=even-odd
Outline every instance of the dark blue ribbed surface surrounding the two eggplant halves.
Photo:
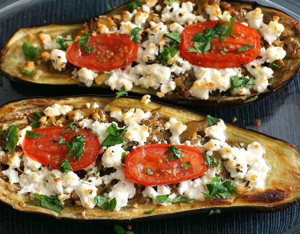
[[[99,15],[110,6],[126,0],[0,0],[0,47],[18,28],[47,23],[74,22]],[[262,1],[259,1],[262,2]],[[264,3],[266,0],[263,1]],[[277,7],[299,13],[299,0],[273,0]],[[269,2],[268,2],[269,3]],[[285,10],[287,11],[287,10]],[[297,17],[297,15],[294,15]],[[261,130],[269,135],[300,145],[300,80],[298,75],[280,92],[244,107],[227,109],[194,109],[237,124]],[[30,87],[2,78],[0,104],[29,96],[57,96],[100,93],[86,88]],[[103,93],[103,92],[101,92]],[[255,126],[260,119],[261,125]],[[114,222],[56,220],[39,214],[15,211],[0,203],[0,233],[113,233]],[[208,216],[194,214],[183,217],[142,220],[131,224],[134,233],[299,233],[300,207],[292,206],[276,213],[222,212]]]

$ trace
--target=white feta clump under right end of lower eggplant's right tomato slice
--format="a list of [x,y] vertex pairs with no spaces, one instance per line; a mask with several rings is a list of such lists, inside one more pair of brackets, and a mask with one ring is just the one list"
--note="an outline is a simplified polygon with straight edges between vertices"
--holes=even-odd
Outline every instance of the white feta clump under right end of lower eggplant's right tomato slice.
[[194,180],[185,180],[179,182],[177,191],[180,195],[196,200],[204,200],[204,193],[208,193],[206,184],[210,183],[215,177],[216,168],[209,167],[207,171]]

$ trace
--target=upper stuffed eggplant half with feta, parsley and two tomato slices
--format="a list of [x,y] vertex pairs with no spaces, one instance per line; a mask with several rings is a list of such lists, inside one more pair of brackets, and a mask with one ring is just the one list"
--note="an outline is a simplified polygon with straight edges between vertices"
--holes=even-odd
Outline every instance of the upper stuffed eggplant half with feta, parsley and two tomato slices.
[[296,20],[254,3],[135,0],[89,22],[19,29],[2,50],[1,70],[37,84],[240,105],[294,76],[299,41]]

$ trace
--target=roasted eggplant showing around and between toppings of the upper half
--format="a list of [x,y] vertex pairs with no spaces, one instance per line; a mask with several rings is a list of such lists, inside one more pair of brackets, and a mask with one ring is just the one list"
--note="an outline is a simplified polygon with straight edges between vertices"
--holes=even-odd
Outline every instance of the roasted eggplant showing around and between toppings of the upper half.
[[[153,1],[155,2],[155,1]],[[198,14],[207,15],[204,11],[204,3],[211,3],[210,1],[203,0],[194,0],[196,6],[194,9],[197,9]],[[246,3],[246,2],[237,2],[232,1],[229,3],[213,1],[220,4],[220,8],[222,10],[226,10],[232,16],[235,16],[237,20],[240,22],[245,19],[245,12],[254,10],[255,7],[259,6],[256,3]],[[162,2],[158,2],[157,4],[163,4]],[[119,16],[123,11],[128,10],[130,5],[127,4],[121,5],[112,9],[111,11],[106,13],[107,17],[120,21]],[[132,5],[131,5],[132,7]],[[257,92],[252,90],[250,93],[241,94],[241,95],[232,95],[230,91],[212,91],[210,93],[208,99],[199,99],[197,97],[191,96],[190,91],[188,91],[194,80],[192,80],[193,75],[186,72],[185,74],[180,75],[179,77],[173,77],[173,80],[176,82],[176,89],[168,92],[161,100],[170,102],[170,103],[180,103],[189,106],[205,106],[205,107],[225,107],[225,106],[233,106],[233,105],[242,105],[244,103],[248,103],[246,100],[259,100],[265,96],[270,95],[278,91],[285,84],[287,84],[293,76],[296,74],[300,67],[300,37],[299,37],[299,24],[292,17],[287,14],[268,7],[259,6],[263,13],[263,22],[267,23],[272,19],[274,15],[279,16],[279,22],[284,25],[284,31],[281,33],[279,39],[276,40],[273,45],[283,47],[286,51],[286,56],[283,59],[279,59],[276,62],[278,64],[274,64],[274,62],[270,62],[266,66],[272,68],[274,70],[273,77],[269,81],[269,85],[267,89],[258,93],[258,98],[256,98]],[[131,8],[132,10],[132,8]],[[157,12],[151,14],[151,20],[155,21],[155,14]],[[98,20],[98,21],[96,21]],[[149,19],[150,20],[150,19]],[[42,31],[42,33],[50,34],[52,37],[57,33],[66,37],[66,35],[70,34],[72,37],[78,34],[82,34],[82,31],[92,31],[96,26],[97,22],[101,22],[101,25],[109,26],[109,22],[107,22],[107,18],[97,18],[91,19],[89,23],[85,23],[82,26],[82,23],[77,24],[67,24],[67,25],[45,25],[38,26],[32,28],[21,28],[19,29],[7,42],[5,47],[1,51],[1,59],[0,59],[0,68],[6,73],[10,78],[18,81],[25,81],[29,83],[35,84],[46,84],[46,85],[80,85],[78,79],[71,78],[72,66],[67,65],[63,71],[57,71],[51,67],[51,64],[48,62],[43,62],[42,59],[37,61],[35,64],[35,69],[40,70],[40,74],[37,79],[32,78],[30,75],[23,75],[18,70],[18,67],[22,67],[25,63],[24,54],[22,51],[22,43],[23,41],[30,41],[30,43],[42,45],[40,39],[38,38],[38,33]],[[108,24],[107,24],[108,23]],[[148,22],[146,22],[148,23]],[[107,27],[106,27],[107,28]],[[142,35],[143,36],[143,35]],[[141,36],[141,37],[142,37]],[[261,39],[261,47],[268,46],[268,43]],[[160,54],[161,55],[161,54]],[[159,57],[159,56],[158,56]],[[155,61],[154,61],[155,62]],[[279,64],[280,63],[280,64]],[[284,65],[283,65],[284,64]],[[265,63],[263,64],[265,65]],[[246,72],[246,75],[248,73]],[[181,77],[182,76],[182,77]],[[184,76],[184,77],[183,77]],[[104,84],[104,80],[109,77],[109,74],[100,72],[98,76],[94,79],[92,87],[108,87]],[[188,88],[186,88],[189,85]],[[266,88],[266,86],[265,86]],[[157,90],[149,88],[143,88],[141,86],[134,85],[131,89],[132,93],[138,94],[155,94]],[[154,96],[154,95],[153,95]],[[157,97],[153,97],[157,98]],[[246,101],[246,102],[245,102]]]

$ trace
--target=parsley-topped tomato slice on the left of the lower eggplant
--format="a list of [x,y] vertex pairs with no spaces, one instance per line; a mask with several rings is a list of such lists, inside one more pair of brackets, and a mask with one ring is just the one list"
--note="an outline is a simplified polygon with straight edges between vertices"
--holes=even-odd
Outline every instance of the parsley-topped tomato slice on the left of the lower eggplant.
[[83,134],[85,136],[84,152],[80,161],[73,158],[73,153],[68,161],[72,166],[72,170],[80,170],[89,166],[98,156],[100,151],[100,143],[98,138],[90,131],[78,128],[78,132],[73,134],[66,131],[61,134],[61,131],[66,127],[46,127],[32,129],[32,131],[42,133],[39,138],[24,138],[22,142],[22,149],[26,156],[38,161],[39,163],[47,166],[48,164],[52,169],[59,169],[57,165],[67,154],[67,147],[65,144],[59,144],[60,137],[64,137],[65,141],[69,141],[73,136]]

